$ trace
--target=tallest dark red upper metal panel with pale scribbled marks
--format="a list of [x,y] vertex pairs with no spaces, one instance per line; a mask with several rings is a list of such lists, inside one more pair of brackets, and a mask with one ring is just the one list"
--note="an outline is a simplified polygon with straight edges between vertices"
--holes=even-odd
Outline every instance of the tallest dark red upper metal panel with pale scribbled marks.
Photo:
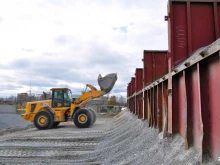
[[168,37],[172,67],[219,38],[220,4],[216,1],[170,0]]

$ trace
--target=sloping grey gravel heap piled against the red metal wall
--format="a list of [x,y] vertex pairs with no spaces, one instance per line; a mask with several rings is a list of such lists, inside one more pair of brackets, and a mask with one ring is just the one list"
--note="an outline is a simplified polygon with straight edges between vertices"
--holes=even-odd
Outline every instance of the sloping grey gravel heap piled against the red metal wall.
[[[149,128],[146,120],[137,119],[137,116],[124,111],[115,117],[96,154],[87,161],[119,165],[200,164],[199,152],[193,147],[189,150],[184,148],[180,135],[162,139],[162,134],[158,134],[157,129]],[[205,160],[205,163],[218,162]]]

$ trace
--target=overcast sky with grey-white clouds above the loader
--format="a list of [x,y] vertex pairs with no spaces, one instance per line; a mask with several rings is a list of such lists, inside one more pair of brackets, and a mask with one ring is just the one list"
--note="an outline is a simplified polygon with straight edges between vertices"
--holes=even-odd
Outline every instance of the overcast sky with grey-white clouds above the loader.
[[117,73],[126,96],[143,50],[167,49],[167,0],[0,0],[0,97]]

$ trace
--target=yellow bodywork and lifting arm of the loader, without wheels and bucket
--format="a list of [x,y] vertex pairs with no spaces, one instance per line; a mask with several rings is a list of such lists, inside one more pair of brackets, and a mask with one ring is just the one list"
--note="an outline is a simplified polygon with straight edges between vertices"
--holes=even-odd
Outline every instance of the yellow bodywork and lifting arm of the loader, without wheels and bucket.
[[52,88],[52,99],[51,100],[42,100],[42,101],[33,101],[26,104],[26,111],[22,114],[22,118],[28,121],[34,121],[35,115],[40,111],[49,111],[54,115],[55,122],[65,122],[68,118],[72,118],[75,111],[81,109],[85,106],[86,102],[104,95],[106,92],[103,90],[97,90],[94,86],[87,84],[89,91],[85,91],[77,99],[70,101],[70,104],[62,105],[58,103],[56,107],[53,106],[55,102],[54,91],[67,91],[71,92],[68,88]]

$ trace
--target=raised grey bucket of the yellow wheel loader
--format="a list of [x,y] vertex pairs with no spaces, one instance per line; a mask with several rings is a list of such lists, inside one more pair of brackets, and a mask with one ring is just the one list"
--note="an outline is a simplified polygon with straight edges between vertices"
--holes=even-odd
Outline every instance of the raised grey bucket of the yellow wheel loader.
[[115,85],[117,81],[117,73],[107,74],[106,76],[102,77],[100,74],[98,76],[98,84],[101,90],[109,93]]

